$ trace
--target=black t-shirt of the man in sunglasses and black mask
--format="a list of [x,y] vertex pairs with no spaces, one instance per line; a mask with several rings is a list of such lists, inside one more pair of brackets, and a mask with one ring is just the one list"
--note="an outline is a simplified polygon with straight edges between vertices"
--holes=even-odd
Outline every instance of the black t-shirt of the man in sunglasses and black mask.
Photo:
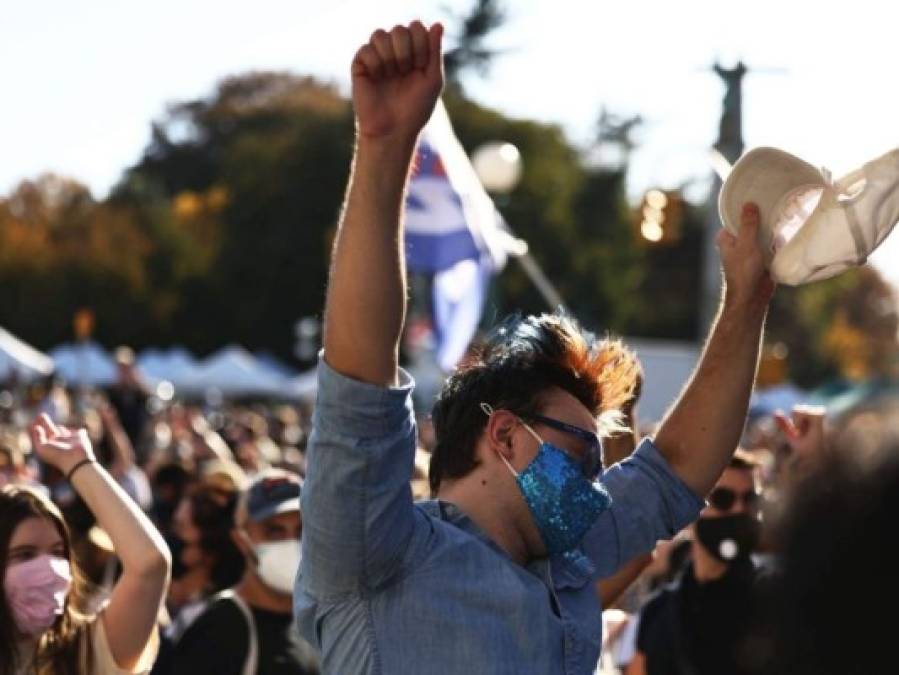
[[647,675],[735,675],[749,672],[745,641],[759,572],[749,561],[699,584],[689,565],[643,608],[637,649]]

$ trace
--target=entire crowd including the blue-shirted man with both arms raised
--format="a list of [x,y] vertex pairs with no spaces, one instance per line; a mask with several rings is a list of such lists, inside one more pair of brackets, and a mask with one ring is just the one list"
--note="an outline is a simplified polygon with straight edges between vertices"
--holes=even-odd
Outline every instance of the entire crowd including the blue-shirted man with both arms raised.
[[636,355],[561,312],[501,324],[416,416],[398,242],[441,38],[353,61],[314,409],[161,401],[127,350],[107,391],[0,386],[0,675],[891,672],[899,434],[746,425],[754,205],[651,428]]

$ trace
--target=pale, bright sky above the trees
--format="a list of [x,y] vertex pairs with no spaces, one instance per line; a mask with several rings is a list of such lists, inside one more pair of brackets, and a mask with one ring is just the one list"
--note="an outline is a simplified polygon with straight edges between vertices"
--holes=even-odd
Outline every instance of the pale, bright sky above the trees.
[[[688,181],[701,188],[723,93],[708,71],[716,59],[760,69],[744,89],[750,147],[782,147],[840,175],[899,145],[897,10],[887,3],[856,0],[839,12],[804,0],[506,4],[493,40],[504,55],[487,78],[469,80],[469,92],[507,114],[561,124],[579,143],[603,105],[643,115],[633,195]],[[373,28],[447,19],[446,6],[462,13],[469,2],[8,0],[0,194],[52,170],[102,196],[139,158],[167,103],[254,68],[310,73],[345,90],[349,60]],[[877,259],[899,280],[899,240]]]

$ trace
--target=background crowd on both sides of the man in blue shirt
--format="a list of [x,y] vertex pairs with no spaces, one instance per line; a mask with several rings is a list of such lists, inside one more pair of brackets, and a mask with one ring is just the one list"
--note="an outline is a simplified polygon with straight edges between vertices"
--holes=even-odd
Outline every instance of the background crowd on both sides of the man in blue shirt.
[[[105,664],[93,672],[319,672],[318,649],[300,638],[291,601],[312,411],[262,403],[164,405],[132,365],[120,367],[120,382],[105,392],[53,379],[0,387],[5,565],[19,570],[14,579],[25,587],[26,574],[35,573],[16,563],[58,555],[69,572],[45,568],[42,583],[71,589],[65,612],[47,606],[50,614],[43,617],[37,596],[7,590],[0,627],[9,637],[20,613],[35,629],[66,617],[57,634],[44,635],[47,660],[33,664],[36,672],[84,672],[85,663]],[[609,463],[626,459],[643,435],[655,432],[638,417],[638,399],[634,391],[622,406],[632,431],[605,439]],[[651,556],[638,557],[622,580],[597,582],[603,647],[596,672],[886,672],[882,650],[854,646],[885,630],[866,619],[887,592],[879,584],[892,560],[888,518],[899,494],[895,412],[868,411],[826,433],[823,409],[752,421],[744,430],[745,449],[733,455],[699,518],[660,541]],[[433,432],[427,419],[419,424],[424,433],[410,489],[427,499]],[[92,491],[97,486],[78,482],[83,469],[73,472],[71,461],[60,465],[41,445],[41,435],[49,440],[80,427],[87,432],[82,445],[93,448],[109,476],[97,480],[102,497]],[[35,517],[52,529],[25,535],[37,538],[30,543],[16,530]],[[126,540],[118,538],[123,528],[104,527],[114,519],[133,528]],[[134,533],[143,536],[135,541]],[[116,611],[113,597],[120,584],[127,588],[127,573],[147,573],[129,565],[139,560],[152,576],[166,559],[171,582],[155,617],[156,637],[147,631],[138,658],[117,656],[114,667],[116,638],[98,637],[104,624],[96,617]],[[156,592],[162,597],[158,586]],[[126,621],[133,626],[131,603],[145,600],[119,595],[128,598]],[[86,647],[73,650],[76,640]],[[22,651],[4,659],[5,672],[31,672]]]

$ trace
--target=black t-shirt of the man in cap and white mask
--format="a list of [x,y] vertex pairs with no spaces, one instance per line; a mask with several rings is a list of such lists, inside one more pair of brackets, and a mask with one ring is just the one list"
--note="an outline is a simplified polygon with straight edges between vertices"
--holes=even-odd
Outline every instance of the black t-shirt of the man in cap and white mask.
[[[251,607],[262,675],[318,675],[318,657],[290,614]],[[212,603],[181,636],[172,658],[175,675],[242,675],[250,650],[249,626],[232,600]]]

